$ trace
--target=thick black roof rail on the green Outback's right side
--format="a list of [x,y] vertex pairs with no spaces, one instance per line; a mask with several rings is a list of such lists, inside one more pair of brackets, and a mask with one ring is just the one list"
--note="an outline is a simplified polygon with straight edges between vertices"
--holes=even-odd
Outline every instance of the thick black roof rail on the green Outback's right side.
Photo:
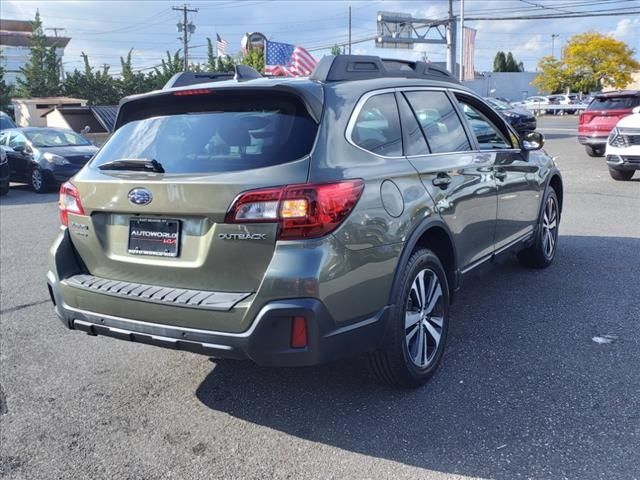
[[430,63],[380,58],[374,55],[328,55],[320,60],[309,78],[319,82],[342,82],[388,77],[460,83],[447,70]]

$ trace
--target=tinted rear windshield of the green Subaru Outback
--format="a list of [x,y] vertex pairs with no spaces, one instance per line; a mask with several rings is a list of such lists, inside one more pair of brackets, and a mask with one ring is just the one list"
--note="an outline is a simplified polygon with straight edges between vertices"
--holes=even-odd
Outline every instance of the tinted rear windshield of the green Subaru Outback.
[[318,130],[298,99],[272,93],[159,97],[135,115],[148,118],[120,127],[93,166],[156,160],[169,174],[268,167],[308,155]]

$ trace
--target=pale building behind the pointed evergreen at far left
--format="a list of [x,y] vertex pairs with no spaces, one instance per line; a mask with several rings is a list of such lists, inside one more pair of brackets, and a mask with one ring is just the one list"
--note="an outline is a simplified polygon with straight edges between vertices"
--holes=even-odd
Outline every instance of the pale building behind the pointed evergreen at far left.
[[[0,19],[0,62],[5,68],[5,82],[8,85],[16,83],[20,67],[29,61],[29,36],[33,29],[31,23],[25,20]],[[48,47],[56,46],[56,55],[61,65],[64,49],[70,40],[69,37],[46,37]]]

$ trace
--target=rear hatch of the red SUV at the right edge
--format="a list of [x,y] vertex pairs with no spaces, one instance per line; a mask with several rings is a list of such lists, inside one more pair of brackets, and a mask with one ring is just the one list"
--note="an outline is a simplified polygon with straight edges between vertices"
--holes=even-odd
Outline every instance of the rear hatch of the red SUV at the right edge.
[[631,115],[638,105],[640,95],[637,93],[597,96],[580,114],[578,132],[580,135],[606,137],[616,123]]

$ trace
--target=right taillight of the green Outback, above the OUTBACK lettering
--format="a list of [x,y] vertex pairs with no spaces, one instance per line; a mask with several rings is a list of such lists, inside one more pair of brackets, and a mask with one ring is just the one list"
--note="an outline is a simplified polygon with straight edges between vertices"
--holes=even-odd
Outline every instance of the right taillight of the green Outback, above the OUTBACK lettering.
[[280,240],[318,238],[338,228],[358,203],[363,189],[362,180],[346,180],[251,190],[238,196],[225,221],[278,222]]

